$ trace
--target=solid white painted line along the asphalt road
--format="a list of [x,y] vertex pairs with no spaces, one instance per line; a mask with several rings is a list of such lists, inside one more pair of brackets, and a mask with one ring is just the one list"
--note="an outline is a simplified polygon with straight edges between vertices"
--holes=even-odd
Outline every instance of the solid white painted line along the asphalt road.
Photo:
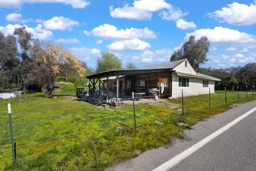
[[174,165],[178,164],[180,161],[182,161],[183,159],[185,159],[186,157],[188,157],[189,155],[191,155],[192,153],[194,153],[195,151],[197,151],[198,149],[200,149],[201,147],[206,145],[206,143],[210,142],[212,139],[214,139],[215,137],[217,137],[218,135],[220,135],[221,133],[223,133],[224,131],[226,131],[227,129],[234,126],[236,123],[238,123],[239,121],[241,121],[242,119],[244,119],[245,117],[250,115],[255,110],[256,110],[256,107],[254,107],[250,111],[244,113],[242,116],[236,118],[234,121],[228,123],[228,125],[220,128],[218,131],[212,133],[208,137],[204,138],[202,141],[200,141],[200,142],[196,143],[195,145],[193,145],[192,147],[186,149],[185,151],[183,151],[176,157],[173,157],[169,161],[166,161],[166,163],[158,166],[153,171],[167,171],[168,169],[170,169]]

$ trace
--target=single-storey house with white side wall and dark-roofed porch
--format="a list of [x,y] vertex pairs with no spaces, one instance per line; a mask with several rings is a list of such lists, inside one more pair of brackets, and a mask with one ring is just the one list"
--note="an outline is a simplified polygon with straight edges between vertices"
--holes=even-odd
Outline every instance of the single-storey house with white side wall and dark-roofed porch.
[[[214,82],[218,78],[196,72],[187,59],[145,66],[140,70],[115,70],[87,76],[90,83],[89,95],[108,101],[118,100],[120,95],[145,93],[157,89],[160,98],[181,97],[214,93]],[[99,90],[96,91],[96,86]],[[114,94],[114,95],[113,95]],[[118,105],[118,101],[116,101]]]

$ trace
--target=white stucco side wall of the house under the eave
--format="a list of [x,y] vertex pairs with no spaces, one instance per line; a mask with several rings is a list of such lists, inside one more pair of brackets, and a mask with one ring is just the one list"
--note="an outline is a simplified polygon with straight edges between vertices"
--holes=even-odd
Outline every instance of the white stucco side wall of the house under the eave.
[[[189,87],[179,87],[179,77],[189,78]],[[183,96],[209,94],[209,88],[210,93],[214,93],[214,81],[208,80],[208,87],[203,87],[203,80],[184,76],[172,76],[172,97],[182,97],[182,89]]]

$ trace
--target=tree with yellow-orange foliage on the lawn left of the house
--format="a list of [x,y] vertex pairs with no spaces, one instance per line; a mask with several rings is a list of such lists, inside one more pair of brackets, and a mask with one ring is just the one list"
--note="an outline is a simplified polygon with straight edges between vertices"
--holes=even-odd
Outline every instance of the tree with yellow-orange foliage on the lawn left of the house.
[[49,87],[47,89],[44,89],[46,86],[42,87],[48,97],[53,97],[53,85],[58,75],[68,72],[83,76],[85,72],[80,60],[63,46],[56,46],[50,42],[36,42],[31,53],[34,55],[36,64],[49,71]]

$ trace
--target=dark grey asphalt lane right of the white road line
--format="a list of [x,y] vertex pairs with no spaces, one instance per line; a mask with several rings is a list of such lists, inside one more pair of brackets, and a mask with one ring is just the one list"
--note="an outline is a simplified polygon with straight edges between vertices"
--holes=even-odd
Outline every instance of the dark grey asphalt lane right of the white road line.
[[256,112],[169,169],[188,170],[256,171]]

